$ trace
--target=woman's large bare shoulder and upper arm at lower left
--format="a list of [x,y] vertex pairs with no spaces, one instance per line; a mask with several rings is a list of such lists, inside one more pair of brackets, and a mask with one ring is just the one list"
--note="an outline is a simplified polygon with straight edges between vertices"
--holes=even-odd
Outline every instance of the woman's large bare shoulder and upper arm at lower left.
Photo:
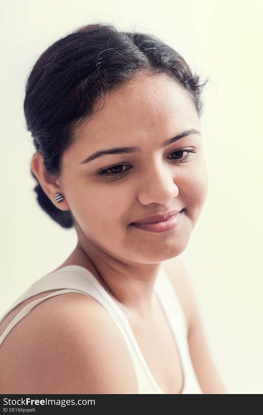
[[[138,393],[120,329],[88,295],[65,293],[44,300],[7,339],[0,348],[5,393]],[[12,361],[9,357],[6,365],[10,347]]]

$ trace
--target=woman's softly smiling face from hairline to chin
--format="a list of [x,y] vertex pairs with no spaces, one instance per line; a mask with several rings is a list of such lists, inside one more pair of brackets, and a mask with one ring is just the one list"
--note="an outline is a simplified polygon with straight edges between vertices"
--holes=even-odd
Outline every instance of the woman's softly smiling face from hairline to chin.
[[[105,96],[103,109],[76,130],[58,179],[82,243],[126,263],[157,263],[184,251],[208,189],[202,136],[162,143],[192,129],[201,132],[194,103],[168,76],[145,77]],[[134,151],[84,162],[120,147]],[[179,224],[166,232],[131,225],[181,209]]]

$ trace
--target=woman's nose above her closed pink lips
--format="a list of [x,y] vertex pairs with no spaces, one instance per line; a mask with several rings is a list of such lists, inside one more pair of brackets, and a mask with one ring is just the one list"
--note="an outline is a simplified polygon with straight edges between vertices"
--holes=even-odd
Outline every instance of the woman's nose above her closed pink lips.
[[148,203],[165,204],[177,197],[179,189],[175,184],[175,172],[171,166],[155,163],[148,166],[146,173],[138,181],[137,198],[142,205]]

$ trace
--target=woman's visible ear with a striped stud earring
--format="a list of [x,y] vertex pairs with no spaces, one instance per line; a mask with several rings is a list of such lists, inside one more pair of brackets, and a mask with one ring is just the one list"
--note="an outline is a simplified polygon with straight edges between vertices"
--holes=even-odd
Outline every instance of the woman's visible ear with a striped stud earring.
[[[56,178],[56,176],[47,172],[47,169],[44,165],[44,157],[41,153],[39,153],[39,151],[34,153],[32,157],[31,169],[34,175],[37,177],[40,186],[42,187],[46,195],[49,197],[49,199],[52,201],[52,203],[60,210],[69,210],[70,208],[66,201],[63,190],[59,186],[59,180]],[[60,193],[64,197],[64,200],[57,203],[55,201],[56,193]]]

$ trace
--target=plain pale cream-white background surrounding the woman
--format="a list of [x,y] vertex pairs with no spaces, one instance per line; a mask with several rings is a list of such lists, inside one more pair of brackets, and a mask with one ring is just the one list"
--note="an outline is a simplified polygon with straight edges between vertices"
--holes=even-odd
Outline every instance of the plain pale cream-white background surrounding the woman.
[[[76,27],[102,22],[161,37],[209,76],[202,134],[209,194],[181,258],[207,341],[229,393],[263,393],[262,27],[256,0],[110,2],[48,0],[2,5],[0,316],[76,244],[38,207],[25,128],[25,81],[38,56]],[[173,260],[165,266],[173,266]]]

